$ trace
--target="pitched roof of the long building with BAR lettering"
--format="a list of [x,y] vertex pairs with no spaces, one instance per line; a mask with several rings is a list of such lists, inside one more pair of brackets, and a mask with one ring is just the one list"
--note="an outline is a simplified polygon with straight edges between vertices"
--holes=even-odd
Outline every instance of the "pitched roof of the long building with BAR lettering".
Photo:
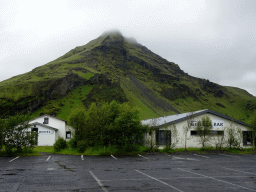
[[[248,124],[246,124],[243,121],[236,120],[234,118],[223,115],[221,113],[217,113],[217,112],[209,110],[209,109],[188,112],[188,113],[182,113],[182,114],[176,114],[176,115],[170,115],[170,116],[164,116],[164,117],[159,117],[159,118],[155,118],[155,119],[146,119],[146,120],[141,121],[141,123],[143,125],[150,125],[150,126],[155,126],[155,127],[159,128],[159,127],[163,127],[164,125],[171,125],[174,123],[178,123],[178,122],[187,120],[187,119],[191,118],[191,116],[196,117],[196,116],[203,115],[206,113],[210,113],[210,114],[222,117],[224,119],[234,121],[241,125],[249,126]],[[154,124],[154,125],[152,125],[152,124]]]

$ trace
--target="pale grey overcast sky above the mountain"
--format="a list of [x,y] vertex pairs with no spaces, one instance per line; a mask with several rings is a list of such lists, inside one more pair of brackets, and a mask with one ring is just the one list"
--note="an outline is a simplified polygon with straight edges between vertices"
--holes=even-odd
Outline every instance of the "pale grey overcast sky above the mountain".
[[1,0],[0,81],[111,29],[195,77],[256,96],[255,0]]

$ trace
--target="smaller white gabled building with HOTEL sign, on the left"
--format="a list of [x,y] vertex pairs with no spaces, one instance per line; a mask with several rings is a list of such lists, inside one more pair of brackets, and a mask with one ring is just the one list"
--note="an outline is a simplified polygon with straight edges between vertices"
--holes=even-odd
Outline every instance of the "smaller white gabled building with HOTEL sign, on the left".
[[73,134],[72,127],[66,121],[47,114],[32,119],[29,124],[31,131],[38,132],[38,146],[53,146],[59,137],[68,141]]

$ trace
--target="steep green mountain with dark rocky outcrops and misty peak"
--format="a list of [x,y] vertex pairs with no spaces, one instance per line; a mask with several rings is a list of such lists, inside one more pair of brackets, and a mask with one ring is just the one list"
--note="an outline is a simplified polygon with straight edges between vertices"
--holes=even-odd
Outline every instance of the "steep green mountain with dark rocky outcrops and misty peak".
[[32,71],[0,82],[0,117],[31,112],[68,120],[90,103],[129,102],[141,119],[211,109],[249,122],[256,97],[192,77],[133,38],[106,32]]

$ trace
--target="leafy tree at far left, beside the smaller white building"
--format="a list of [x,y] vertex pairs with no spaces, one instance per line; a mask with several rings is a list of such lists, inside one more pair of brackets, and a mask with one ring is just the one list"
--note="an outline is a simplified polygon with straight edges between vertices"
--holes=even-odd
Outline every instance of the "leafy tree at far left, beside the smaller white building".
[[36,145],[37,133],[31,132],[28,115],[16,115],[9,117],[4,123],[5,151],[7,154],[12,150],[22,152],[31,151]]

